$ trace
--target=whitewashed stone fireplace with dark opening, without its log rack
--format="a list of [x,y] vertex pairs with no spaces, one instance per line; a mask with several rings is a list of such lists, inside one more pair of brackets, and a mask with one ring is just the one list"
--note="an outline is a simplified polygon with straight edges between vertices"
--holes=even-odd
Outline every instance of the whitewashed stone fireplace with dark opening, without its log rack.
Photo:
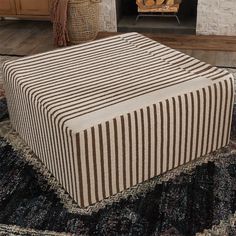
[[143,18],[135,24],[136,0],[101,0],[99,5],[100,31],[236,36],[235,0],[182,0],[178,12],[180,25],[174,18]]

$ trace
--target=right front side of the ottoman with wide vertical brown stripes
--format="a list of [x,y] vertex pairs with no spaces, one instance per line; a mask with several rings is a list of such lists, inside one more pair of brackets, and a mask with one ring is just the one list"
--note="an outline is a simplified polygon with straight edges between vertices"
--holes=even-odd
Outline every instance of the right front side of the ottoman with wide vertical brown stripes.
[[232,101],[232,80],[223,80],[77,133],[80,205],[88,206],[225,146]]

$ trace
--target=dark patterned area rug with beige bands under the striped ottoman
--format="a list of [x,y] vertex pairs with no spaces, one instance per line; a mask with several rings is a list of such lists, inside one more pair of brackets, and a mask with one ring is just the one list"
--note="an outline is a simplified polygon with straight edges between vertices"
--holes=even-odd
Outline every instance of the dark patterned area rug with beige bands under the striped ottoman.
[[11,129],[0,91],[0,235],[236,235],[234,142],[81,211]]

